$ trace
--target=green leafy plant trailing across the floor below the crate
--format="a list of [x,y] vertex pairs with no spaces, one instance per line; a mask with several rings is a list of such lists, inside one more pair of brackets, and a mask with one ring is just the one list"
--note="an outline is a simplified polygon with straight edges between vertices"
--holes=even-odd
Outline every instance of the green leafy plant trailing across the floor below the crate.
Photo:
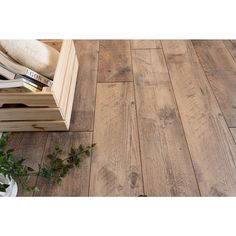
[[[14,179],[20,184],[24,191],[40,191],[37,186],[30,185],[30,178],[36,176],[52,186],[60,184],[65,176],[74,168],[79,168],[81,162],[90,157],[95,143],[90,146],[79,145],[78,148],[71,148],[68,157],[61,158],[62,149],[56,146],[51,153],[47,155],[45,163],[39,164],[38,169],[34,170],[24,164],[25,158],[17,158],[14,149],[8,147],[10,134],[3,133],[0,139],[0,174]],[[6,192],[8,184],[0,182],[0,192]]]

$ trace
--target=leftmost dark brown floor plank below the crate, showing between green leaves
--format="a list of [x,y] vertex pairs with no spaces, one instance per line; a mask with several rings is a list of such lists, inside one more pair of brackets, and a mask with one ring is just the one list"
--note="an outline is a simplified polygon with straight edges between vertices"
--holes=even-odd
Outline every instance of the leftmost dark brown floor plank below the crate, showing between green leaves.
[[[15,149],[16,158],[26,158],[24,163],[37,170],[38,164],[42,161],[47,136],[47,132],[13,133],[9,140],[9,145]],[[36,178],[32,177],[29,184],[34,186]],[[19,183],[18,187],[18,196],[32,196],[32,193],[24,193]]]

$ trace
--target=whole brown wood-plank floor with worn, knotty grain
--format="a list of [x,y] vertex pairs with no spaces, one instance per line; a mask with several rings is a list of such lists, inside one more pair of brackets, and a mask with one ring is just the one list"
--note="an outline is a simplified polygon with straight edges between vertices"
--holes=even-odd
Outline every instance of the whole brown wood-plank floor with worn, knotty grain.
[[[97,143],[41,196],[236,196],[236,40],[76,41],[70,132],[15,133],[33,167]],[[34,180],[37,181],[37,180]]]

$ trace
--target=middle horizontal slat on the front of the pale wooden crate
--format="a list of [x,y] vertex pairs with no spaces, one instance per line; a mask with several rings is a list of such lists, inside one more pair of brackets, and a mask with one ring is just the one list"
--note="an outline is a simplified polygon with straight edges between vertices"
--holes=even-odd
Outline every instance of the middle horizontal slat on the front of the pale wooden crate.
[[0,120],[62,120],[62,116],[58,108],[1,108]]

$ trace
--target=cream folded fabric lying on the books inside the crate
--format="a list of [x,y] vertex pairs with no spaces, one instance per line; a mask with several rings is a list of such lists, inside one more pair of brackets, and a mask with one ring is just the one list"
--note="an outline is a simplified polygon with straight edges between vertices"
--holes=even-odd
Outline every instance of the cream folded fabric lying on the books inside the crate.
[[53,78],[59,52],[38,40],[0,40],[7,54],[20,64]]

